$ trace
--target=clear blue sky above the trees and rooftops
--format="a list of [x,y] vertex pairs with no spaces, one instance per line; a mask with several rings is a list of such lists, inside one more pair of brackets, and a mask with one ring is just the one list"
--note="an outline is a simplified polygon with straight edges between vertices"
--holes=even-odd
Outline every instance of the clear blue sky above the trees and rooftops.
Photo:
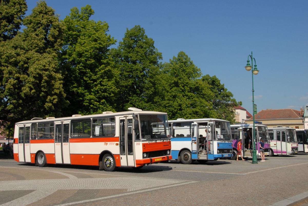
[[[28,12],[36,0],[27,0]],[[95,21],[106,21],[117,41],[140,25],[168,62],[184,51],[203,75],[216,75],[252,113],[252,75],[245,70],[253,51],[257,110],[308,103],[308,1],[111,1],[46,0],[60,19],[89,4]]]

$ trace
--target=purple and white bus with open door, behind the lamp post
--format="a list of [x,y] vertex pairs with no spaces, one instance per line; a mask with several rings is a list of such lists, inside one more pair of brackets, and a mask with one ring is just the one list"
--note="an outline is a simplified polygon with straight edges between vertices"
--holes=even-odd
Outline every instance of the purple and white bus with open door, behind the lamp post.
[[[237,156],[237,143],[239,139],[242,139],[242,156],[244,159],[248,157],[252,157],[253,155],[253,124],[233,124],[231,125],[231,134],[233,139],[233,158],[236,159]],[[260,155],[260,139],[264,140],[264,154],[265,156],[269,156],[271,154],[270,151],[270,138],[267,131],[267,126],[261,124],[255,124],[255,138],[256,138],[256,151],[257,154]]]

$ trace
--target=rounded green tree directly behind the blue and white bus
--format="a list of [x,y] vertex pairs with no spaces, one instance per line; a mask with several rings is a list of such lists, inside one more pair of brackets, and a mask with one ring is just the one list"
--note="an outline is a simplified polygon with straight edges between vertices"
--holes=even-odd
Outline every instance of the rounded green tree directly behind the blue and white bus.
[[200,69],[183,51],[169,63],[164,63],[160,83],[157,84],[157,87],[162,85],[163,88],[156,87],[156,91],[160,91],[156,103],[160,105],[159,111],[167,112],[169,119],[213,117],[213,107],[209,102],[213,93],[200,77]]

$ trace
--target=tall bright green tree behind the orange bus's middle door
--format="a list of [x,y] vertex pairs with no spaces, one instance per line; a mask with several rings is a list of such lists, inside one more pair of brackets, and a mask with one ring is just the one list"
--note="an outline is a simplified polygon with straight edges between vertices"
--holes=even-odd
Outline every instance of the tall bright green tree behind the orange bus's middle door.
[[70,105],[66,113],[93,114],[114,111],[115,84],[119,74],[114,68],[109,47],[115,40],[106,22],[90,20],[90,5],[74,7],[64,19],[66,27],[62,68]]

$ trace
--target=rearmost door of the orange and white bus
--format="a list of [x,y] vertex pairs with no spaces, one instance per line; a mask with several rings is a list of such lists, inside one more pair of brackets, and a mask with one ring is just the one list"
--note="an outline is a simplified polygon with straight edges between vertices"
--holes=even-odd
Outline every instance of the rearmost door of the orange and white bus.
[[18,157],[19,162],[31,162],[30,125],[22,125],[18,128]]

